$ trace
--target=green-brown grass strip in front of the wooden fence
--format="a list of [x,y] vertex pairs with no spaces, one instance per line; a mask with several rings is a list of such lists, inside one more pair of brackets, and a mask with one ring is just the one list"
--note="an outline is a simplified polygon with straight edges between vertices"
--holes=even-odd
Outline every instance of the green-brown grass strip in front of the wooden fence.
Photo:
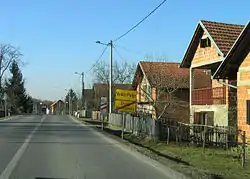
[[178,158],[197,169],[219,174],[223,178],[248,179],[250,177],[250,156],[247,160],[248,165],[242,168],[241,159],[238,158],[239,154],[231,149],[209,148],[204,152],[202,148],[198,147],[181,146],[175,143],[167,145],[164,142],[142,140],[132,135],[126,135],[126,138],[162,154]]

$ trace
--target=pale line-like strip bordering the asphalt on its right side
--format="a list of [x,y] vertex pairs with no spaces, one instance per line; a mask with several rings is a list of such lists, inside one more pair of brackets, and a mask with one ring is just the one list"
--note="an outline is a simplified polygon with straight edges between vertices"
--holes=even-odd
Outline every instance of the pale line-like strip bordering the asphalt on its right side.
[[[70,118],[80,124],[81,126],[85,126],[88,127],[88,125],[85,125],[83,123],[81,123],[80,121],[76,120],[74,117],[70,116]],[[98,135],[99,137],[103,138],[104,140],[106,140],[109,143],[112,143],[114,145],[116,145],[118,148],[120,148],[121,150],[129,153],[130,155],[134,156],[135,158],[139,159],[141,162],[144,162],[146,164],[148,164],[149,166],[155,168],[156,170],[160,171],[161,173],[163,173],[166,177],[168,178],[178,178],[178,179],[189,179],[189,177],[183,175],[182,173],[179,173],[167,166],[164,166],[163,164],[159,163],[158,161],[151,159],[145,155],[143,155],[142,153],[136,151],[136,150],[132,150],[131,148],[129,148],[128,146],[126,146],[125,144],[122,144],[114,139],[111,139],[107,136],[105,136],[104,134],[96,131],[95,129],[92,128],[88,128],[90,130],[93,131],[93,133],[95,133],[96,135]],[[1,178],[0,178],[1,179]]]

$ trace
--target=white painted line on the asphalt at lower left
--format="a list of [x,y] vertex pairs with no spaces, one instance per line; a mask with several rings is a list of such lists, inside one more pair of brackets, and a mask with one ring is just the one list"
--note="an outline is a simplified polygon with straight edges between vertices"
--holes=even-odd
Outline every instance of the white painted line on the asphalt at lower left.
[[45,120],[45,118],[46,118],[46,116],[44,116],[41,119],[41,122],[36,125],[35,129],[25,139],[23,145],[18,149],[18,151],[16,152],[16,154],[14,155],[14,157],[11,159],[11,161],[9,162],[9,164],[7,165],[7,167],[1,173],[0,179],[8,179],[10,177],[11,173],[13,172],[13,170],[16,167],[17,162],[20,160],[20,158],[24,154],[26,148],[28,147],[31,138],[33,137],[33,135],[35,134],[35,132],[37,131],[37,129],[42,125],[42,123]]

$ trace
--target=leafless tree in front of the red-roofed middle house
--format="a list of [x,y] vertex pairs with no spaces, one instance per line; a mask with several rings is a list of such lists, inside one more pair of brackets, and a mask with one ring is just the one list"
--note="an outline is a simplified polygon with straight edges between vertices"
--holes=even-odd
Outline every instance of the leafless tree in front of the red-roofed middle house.
[[178,63],[147,62],[145,65],[150,72],[146,73],[149,84],[142,85],[141,91],[153,106],[157,119],[171,116],[177,108],[183,108],[180,113],[188,115],[188,71],[179,69]]

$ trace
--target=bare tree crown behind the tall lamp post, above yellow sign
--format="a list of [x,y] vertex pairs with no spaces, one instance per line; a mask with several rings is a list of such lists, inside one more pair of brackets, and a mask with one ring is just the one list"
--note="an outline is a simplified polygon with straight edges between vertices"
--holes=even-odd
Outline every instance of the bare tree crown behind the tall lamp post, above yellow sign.
[[[134,77],[136,65],[126,61],[113,63],[113,84],[130,84]],[[109,63],[97,62],[93,66],[95,80],[99,83],[109,83]]]

